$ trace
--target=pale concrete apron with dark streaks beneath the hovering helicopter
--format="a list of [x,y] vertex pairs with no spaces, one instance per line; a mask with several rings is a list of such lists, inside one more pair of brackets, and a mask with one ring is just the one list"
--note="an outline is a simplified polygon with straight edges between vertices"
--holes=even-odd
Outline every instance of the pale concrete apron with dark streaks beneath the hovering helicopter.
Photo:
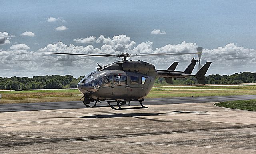
[[162,100],[125,111],[2,112],[0,153],[255,153],[256,112]]

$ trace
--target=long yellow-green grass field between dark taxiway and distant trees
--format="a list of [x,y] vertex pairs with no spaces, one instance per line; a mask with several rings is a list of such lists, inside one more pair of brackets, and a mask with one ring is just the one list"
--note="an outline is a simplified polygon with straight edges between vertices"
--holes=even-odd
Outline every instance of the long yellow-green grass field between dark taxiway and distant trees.
[[[32,90],[2,91],[0,103],[78,101],[81,93],[78,90]],[[252,86],[192,86],[192,87],[157,87],[153,88],[146,98],[159,97],[202,97],[224,95],[253,95],[256,85]]]

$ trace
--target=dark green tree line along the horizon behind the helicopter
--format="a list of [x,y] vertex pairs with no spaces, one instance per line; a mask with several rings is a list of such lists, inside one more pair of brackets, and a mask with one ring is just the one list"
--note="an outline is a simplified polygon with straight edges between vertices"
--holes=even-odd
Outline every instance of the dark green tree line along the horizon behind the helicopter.
[[[76,88],[80,80],[84,76],[74,78],[71,75],[46,75],[28,77],[0,77],[0,89],[16,90],[16,89],[61,89]],[[191,76],[186,79],[173,80],[174,85],[198,84],[196,78]],[[232,75],[209,75],[206,77],[206,84],[240,84],[240,83],[256,83],[256,73],[241,72]],[[156,78],[155,86],[166,86],[164,78]]]

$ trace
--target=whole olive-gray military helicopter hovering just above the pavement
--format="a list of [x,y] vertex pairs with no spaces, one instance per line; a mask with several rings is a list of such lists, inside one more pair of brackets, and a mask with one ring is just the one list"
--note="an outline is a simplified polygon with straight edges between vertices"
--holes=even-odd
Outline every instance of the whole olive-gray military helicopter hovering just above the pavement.
[[[115,110],[123,109],[142,109],[148,108],[142,104],[144,97],[148,95],[154,85],[156,77],[164,77],[167,83],[172,84],[177,78],[186,78],[196,76],[199,84],[205,84],[204,75],[206,74],[212,62],[206,62],[202,68],[195,74],[191,75],[196,62],[201,61],[202,47],[197,48],[197,53],[153,53],[153,54],[136,54],[122,53],[117,55],[107,53],[83,54],[83,53],[46,53],[59,55],[80,55],[96,57],[119,57],[122,61],[100,66],[94,72],[86,75],[78,83],[78,90],[84,95],[82,102],[86,107],[106,107],[97,106],[100,101],[107,101],[108,105]],[[193,59],[184,71],[176,71],[178,62],[174,62],[167,70],[157,70],[153,64],[142,60],[128,60],[131,57],[144,56],[169,56],[169,55],[187,55],[198,54],[199,60]],[[121,105],[129,104],[132,101],[138,101],[141,107],[126,107]],[[89,104],[94,102],[93,106]],[[113,105],[111,103],[115,103]],[[116,106],[118,108],[116,108]]]

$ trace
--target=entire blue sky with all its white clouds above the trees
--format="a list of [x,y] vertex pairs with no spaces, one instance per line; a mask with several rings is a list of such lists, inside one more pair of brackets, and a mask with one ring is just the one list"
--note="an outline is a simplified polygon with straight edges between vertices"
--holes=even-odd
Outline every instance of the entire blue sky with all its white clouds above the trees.
[[[0,0],[0,76],[92,72],[120,59],[65,53],[186,53],[204,47],[207,74],[256,72],[256,1]],[[157,69],[192,57],[140,57]],[[194,74],[198,70],[196,66]]]

